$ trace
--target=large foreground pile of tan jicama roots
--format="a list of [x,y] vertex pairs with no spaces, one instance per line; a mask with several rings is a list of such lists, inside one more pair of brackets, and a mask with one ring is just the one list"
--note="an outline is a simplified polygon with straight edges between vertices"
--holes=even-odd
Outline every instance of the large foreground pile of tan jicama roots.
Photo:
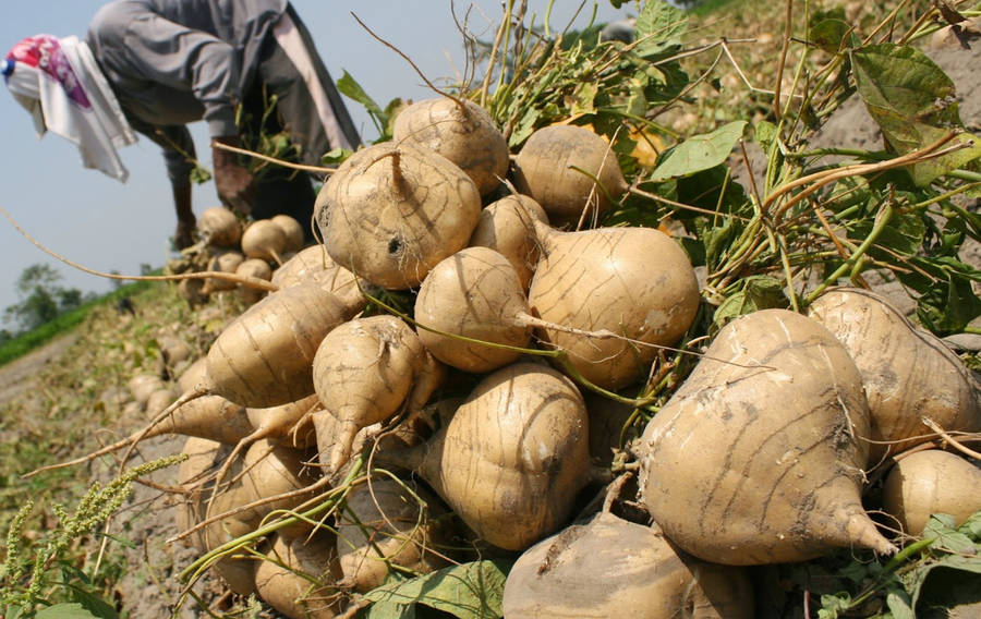
[[[272,259],[275,291],[110,448],[187,435],[185,537],[262,531],[213,569],[291,618],[474,556],[517,559],[509,619],[753,617],[744,566],[891,555],[929,514],[981,509],[981,470],[922,449],[924,420],[981,430],[974,377],[865,290],[732,319],[621,446],[635,403],[616,393],[703,302],[664,232],[590,227],[626,191],[588,129],[541,129],[512,158],[480,107],[416,102],[324,184],[323,244],[244,252]],[[386,291],[414,307],[379,311]],[[887,457],[876,525],[862,493]]]

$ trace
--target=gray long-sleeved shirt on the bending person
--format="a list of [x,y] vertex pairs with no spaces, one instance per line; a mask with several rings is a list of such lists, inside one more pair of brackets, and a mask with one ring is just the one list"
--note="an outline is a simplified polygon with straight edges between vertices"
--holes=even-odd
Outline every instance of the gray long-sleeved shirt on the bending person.
[[183,181],[189,122],[235,135],[235,102],[251,83],[266,34],[287,0],[117,0],[88,28],[88,45],[133,128],[164,146]]

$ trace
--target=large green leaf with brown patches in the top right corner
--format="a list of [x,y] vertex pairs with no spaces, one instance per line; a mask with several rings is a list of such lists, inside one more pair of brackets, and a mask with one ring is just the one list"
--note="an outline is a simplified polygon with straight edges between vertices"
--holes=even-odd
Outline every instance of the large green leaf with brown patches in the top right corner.
[[[856,49],[850,58],[859,96],[900,155],[964,126],[954,82],[922,51],[881,44]],[[918,186],[981,157],[981,142],[976,137],[960,134],[955,141],[973,145],[913,165],[910,173]]]

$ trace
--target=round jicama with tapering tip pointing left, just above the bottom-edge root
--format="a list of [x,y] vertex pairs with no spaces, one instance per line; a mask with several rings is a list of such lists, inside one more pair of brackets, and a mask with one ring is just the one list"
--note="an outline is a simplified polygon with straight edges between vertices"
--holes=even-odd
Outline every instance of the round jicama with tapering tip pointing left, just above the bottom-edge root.
[[589,481],[589,420],[566,376],[514,363],[487,375],[432,439],[376,459],[417,472],[487,543],[522,550],[566,523]]

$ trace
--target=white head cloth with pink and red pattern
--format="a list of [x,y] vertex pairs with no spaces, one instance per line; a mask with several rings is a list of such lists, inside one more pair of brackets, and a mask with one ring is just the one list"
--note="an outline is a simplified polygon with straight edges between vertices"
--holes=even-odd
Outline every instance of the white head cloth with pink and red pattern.
[[125,182],[117,148],[136,142],[116,95],[85,41],[74,36],[28,37],[8,53],[7,86],[34,119],[38,136],[51,131],[78,147],[82,163]]

